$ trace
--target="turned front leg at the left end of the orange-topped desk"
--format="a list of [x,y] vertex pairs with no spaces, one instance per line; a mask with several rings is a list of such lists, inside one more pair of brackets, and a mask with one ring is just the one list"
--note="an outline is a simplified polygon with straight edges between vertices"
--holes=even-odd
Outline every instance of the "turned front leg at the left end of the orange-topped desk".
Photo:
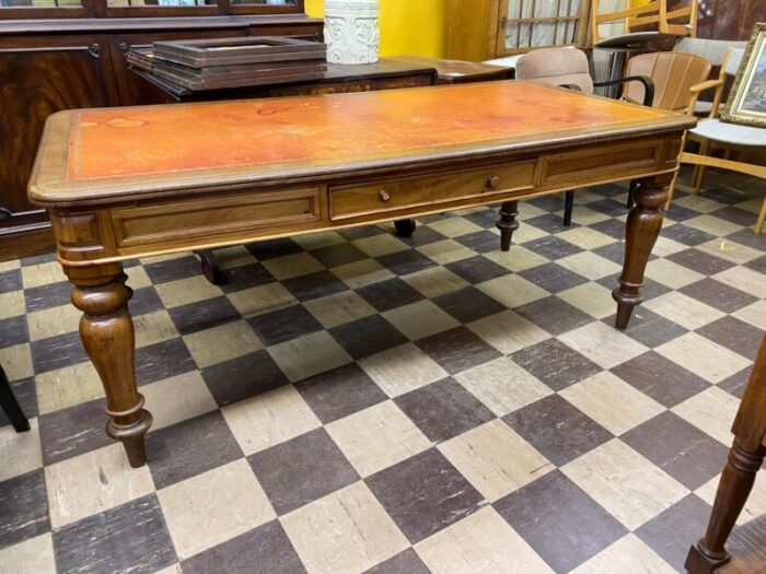
[[128,312],[132,291],[125,284],[121,263],[66,267],[74,285],[72,303],[83,312],[82,344],[98,372],[106,394],[106,434],[123,442],[130,466],[147,461],[143,435],[152,415],[143,410],[136,387],[134,323]]

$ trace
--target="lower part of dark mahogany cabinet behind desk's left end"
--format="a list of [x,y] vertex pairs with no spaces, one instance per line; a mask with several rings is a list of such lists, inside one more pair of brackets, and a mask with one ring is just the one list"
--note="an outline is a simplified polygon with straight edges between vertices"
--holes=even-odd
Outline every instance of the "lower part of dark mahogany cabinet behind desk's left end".
[[137,103],[125,60],[130,46],[245,35],[320,37],[322,26],[304,14],[0,21],[0,260],[53,247],[47,214],[26,198],[45,120],[62,109]]

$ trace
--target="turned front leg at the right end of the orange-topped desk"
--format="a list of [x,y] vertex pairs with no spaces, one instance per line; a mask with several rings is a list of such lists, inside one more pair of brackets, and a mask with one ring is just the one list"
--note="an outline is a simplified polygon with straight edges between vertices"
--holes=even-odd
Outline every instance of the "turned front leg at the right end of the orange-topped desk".
[[660,208],[668,199],[665,188],[673,175],[648,177],[638,181],[634,199],[636,207],[628,214],[625,231],[625,260],[619,288],[612,292],[617,302],[618,329],[625,329],[632,308],[641,303],[639,290],[643,285],[643,271],[662,227]]

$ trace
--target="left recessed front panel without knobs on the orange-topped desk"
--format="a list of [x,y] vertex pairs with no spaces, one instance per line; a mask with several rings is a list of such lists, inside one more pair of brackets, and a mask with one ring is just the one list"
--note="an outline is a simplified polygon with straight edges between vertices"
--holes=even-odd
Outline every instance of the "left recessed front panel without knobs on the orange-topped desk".
[[253,192],[112,211],[117,247],[242,233],[320,220],[318,188]]

